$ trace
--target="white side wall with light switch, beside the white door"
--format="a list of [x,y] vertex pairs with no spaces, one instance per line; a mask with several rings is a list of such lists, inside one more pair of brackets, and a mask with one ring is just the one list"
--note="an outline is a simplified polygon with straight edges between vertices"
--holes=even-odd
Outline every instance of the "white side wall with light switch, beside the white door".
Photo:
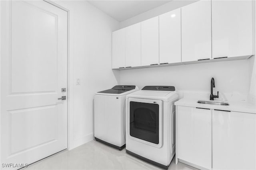
[[54,2],[70,10],[68,135],[73,149],[93,139],[94,93],[118,84],[119,72],[111,69],[111,49],[112,31],[119,22],[86,1]]

